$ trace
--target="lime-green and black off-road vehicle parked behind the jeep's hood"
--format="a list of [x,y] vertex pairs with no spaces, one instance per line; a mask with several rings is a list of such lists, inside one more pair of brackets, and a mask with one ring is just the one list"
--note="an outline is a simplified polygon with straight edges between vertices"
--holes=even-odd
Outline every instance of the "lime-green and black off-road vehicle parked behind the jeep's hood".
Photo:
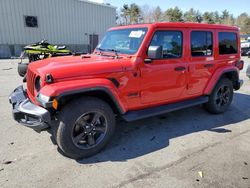
[[28,57],[29,62],[18,63],[18,74],[22,77],[25,76],[28,65],[33,61],[38,61],[41,59],[56,57],[56,56],[66,56],[71,55],[72,52],[66,49],[65,46],[57,46],[48,43],[46,40],[42,40],[41,42],[30,44],[24,47],[24,51],[22,52],[20,58],[23,59],[25,56]]

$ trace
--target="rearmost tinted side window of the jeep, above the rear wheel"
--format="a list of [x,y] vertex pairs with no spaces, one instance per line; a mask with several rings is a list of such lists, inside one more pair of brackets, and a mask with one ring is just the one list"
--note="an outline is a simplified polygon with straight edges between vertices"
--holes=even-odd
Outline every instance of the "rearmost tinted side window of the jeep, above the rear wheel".
[[236,54],[238,52],[237,35],[232,32],[219,32],[219,54]]

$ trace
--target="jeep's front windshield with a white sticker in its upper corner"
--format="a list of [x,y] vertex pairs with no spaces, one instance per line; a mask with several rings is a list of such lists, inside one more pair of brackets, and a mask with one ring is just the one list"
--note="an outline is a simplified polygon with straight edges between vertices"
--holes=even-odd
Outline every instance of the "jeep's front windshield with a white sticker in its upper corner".
[[108,31],[97,46],[99,51],[113,51],[122,54],[135,54],[139,49],[147,28],[130,28]]

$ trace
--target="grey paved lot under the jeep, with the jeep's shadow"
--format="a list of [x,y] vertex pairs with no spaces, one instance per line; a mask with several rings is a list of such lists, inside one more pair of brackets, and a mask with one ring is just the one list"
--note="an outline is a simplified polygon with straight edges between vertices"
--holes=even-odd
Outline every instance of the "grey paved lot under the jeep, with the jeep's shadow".
[[0,187],[250,187],[245,71],[244,86],[225,114],[194,107],[118,123],[103,152],[75,161],[57,151],[48,132],[12,120],[8,95],[22,84],[16,67],[16,60],[0,61]]

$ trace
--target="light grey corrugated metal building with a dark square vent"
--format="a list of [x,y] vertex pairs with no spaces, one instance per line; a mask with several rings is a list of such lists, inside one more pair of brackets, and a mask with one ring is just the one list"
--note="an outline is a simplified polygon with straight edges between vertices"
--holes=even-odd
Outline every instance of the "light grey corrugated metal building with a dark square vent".
[[75,51],[93,49],[115,25],[116,8],[86,0],[0,0],[0,58],[47,39]]

